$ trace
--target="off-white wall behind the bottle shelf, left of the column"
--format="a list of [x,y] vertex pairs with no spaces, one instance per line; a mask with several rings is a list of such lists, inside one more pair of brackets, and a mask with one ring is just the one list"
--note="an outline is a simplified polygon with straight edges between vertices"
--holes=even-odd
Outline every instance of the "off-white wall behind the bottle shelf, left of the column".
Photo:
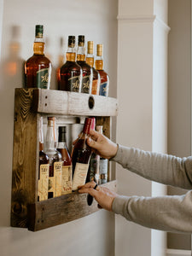
[[[113,213],[101,210],[86,218],[32,233],[9,225],[14,130],[14,90],[22,86],[22,64],[32,55],[34,27],[44,24],[46,53],[55,68],[61,54],[60,38],[84,34],[86,40],[104,44],[105,69],[110,76],[110,96],[116,96],[116,0],[3,0],[0,2],[1,71],[1,179],[0,254],[113,256]],[[3,26],[1,26],[3,25]],[[13,26],[16,26],[13,33]],[[96,48],[95,48],[96,49]],[[51,88],[55,88],[53,73]],[[91,253],[90,253],[91,252]]]

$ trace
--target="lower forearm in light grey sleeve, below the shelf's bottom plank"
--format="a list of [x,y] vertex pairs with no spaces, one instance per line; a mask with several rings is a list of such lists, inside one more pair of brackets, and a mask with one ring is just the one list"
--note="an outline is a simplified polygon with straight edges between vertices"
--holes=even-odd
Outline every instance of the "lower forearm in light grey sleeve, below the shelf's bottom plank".
[[192,233],[192,191],[180,196],[118,196],[113,200],[112,209],[151,229]]

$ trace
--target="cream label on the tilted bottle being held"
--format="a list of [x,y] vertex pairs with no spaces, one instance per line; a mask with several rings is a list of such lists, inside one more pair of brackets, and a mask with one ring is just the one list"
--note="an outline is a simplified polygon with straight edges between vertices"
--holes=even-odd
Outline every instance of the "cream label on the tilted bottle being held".
[[79,186],[83,186],[87,177],[89,165],[76,163],[73,175],[72,190],[77,190]]

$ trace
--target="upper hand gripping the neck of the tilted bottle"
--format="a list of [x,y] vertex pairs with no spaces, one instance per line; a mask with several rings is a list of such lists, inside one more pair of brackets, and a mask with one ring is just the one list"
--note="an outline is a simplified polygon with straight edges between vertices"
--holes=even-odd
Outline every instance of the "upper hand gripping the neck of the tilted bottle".
[[100,154],[103,158],[110,159],[117,154],[118,145],[97,131],[90,130],[87,144],[96,154]]

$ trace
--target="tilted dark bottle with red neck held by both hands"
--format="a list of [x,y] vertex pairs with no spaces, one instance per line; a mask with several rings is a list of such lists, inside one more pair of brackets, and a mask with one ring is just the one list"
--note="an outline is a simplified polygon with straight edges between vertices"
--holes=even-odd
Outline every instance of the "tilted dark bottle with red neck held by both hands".
[[77,190],[78,186],[84,185],[89,168],[91,148],[87,145],[86,139],[90,134],[92,119],[86,118],[84,129],[73,146],[72,166],[73,166],[73,185],[72,190]]

